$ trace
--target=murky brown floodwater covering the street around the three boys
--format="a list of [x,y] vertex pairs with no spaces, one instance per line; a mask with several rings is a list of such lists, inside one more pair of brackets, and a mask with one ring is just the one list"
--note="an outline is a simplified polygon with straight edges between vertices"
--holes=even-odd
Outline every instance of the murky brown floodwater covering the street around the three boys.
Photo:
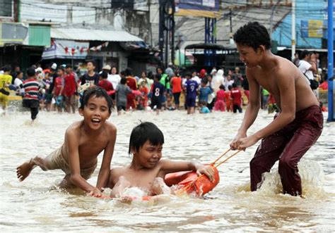
[[[112,166],[131,162],[129,136],[140,120],[154,122],[163,131],[163,158],[208,163],[228,149],[242,117],[233,113],[189,116],[184,111],[165,111],[158,116],[151,112],[112,113],[110,121],[117,127]],[[324,119],[326,122],[326,115]],[[54,188],[64,177],[61,170],[36,168],[24,182],[18,182],[16,167],[57,149],[66,128],[81,116],[40,112],[34,125],[29,125],[29,120],[28,112],[9,112],[1,118],[1,232],[334,230],[334,122],[324,124],[321,137],[299,164],[305,199],[281,194],[278,163],[266,174],[259,191],[249,191],[249,160],[257,143],[221,165],[221,182],[205,199],[172,196],[166,203],[129,205]],[[249,132],[271,120],[272,115],[261,111]],[[98,158],[100,168],[102,154]],[[98,171],[90,184],[96,184]]]

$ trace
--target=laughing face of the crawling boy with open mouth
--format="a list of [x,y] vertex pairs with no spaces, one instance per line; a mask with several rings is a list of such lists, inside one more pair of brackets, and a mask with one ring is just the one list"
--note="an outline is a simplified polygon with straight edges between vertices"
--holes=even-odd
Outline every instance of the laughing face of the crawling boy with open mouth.
[[100,130],[105,121],[110,117],[108,103],[104,97],[90,96],[84,108],[79,108],[79,113],[84,118],[84,124],[91,130]]

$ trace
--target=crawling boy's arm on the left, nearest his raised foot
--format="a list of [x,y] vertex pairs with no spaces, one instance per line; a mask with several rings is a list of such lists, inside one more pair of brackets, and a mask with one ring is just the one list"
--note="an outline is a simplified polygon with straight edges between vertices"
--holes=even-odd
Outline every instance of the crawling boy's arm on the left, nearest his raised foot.
[[[70,143],[71,141],[71,143]],[[69,155],[69,165],[70,165],[70,180],[76,187],[83,189],[84,191],[90,192],[95,189],[92,185],[81,177],[81,167],[79,161],[79,142],[73,130],[66,130],[65,133],[65,143]]]

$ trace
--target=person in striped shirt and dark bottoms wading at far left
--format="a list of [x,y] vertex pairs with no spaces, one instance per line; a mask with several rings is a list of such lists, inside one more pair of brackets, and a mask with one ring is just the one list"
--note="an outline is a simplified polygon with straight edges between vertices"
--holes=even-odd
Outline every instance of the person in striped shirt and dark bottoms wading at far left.
[[28,68],[28,79],[23,82],[25,89],[25,96],[23,97],[23,107],[30,108],[32,122],[36,119],[38,110],[40,108],[40,101],[38,101],[38,93],[40,92],[40,83],[36,80],[35,70]]

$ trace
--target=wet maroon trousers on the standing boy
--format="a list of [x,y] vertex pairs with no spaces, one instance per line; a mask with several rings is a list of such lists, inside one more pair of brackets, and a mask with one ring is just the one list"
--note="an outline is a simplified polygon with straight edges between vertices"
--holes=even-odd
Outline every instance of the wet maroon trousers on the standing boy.
[[283,193],[301,195],[298,162],[321,135],[323,122],[321,108],[310,106],[295,113],[295,120],[286,127],[262,139],[250,161],[252,191],[261,185],[261,175],[269,172],[279,160],[278,172],[281,175]]

